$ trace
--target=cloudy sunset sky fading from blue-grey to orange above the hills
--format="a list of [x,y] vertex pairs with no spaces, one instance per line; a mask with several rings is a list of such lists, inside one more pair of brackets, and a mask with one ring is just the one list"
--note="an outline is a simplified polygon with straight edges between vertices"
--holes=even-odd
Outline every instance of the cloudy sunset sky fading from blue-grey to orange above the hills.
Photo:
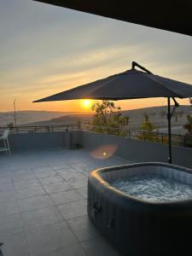
[[[32,0],[0,0],[0,35],[0,111],[12,111],[15,99],[18,110],[88,111],[81,101],[32,101],[123,72],[131,61],[192,84],[189,36]],[[166,100],[117,104],[131,109]]]

